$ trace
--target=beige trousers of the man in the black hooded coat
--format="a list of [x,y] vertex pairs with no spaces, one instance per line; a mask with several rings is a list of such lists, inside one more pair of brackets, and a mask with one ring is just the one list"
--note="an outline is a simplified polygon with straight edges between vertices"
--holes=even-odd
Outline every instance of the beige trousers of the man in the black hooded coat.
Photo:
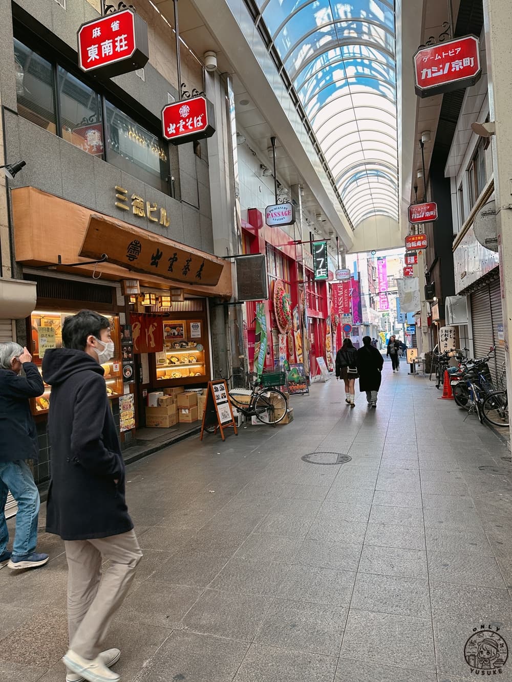
[[[94,659],[115,612],[130,589],[142,552],[134,531],[90,540],[66,540],[70,649]],[[102,572],[102,562],[109,566]]]

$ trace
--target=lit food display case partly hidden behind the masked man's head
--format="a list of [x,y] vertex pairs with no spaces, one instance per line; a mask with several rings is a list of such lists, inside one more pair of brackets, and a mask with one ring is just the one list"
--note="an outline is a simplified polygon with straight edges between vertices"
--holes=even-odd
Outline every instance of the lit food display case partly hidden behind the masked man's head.
[[[76,311],[78,312],[78,310]],[[32,361],[42,373],[42,360],[44,353],[53,348],[62,347],[62,325],[66,317],[74,312],[58,311],[35,311],[30,317],[31,347],[29,350]],[[111,323],[111,336],[114,342],[114,356],[109,362],[102,365],[106,392],[109,398],[119,398],[123,394],[123,377],[121,366],[121,343],[119,340],[119,318],[108,313],[102,313]],[[48,413],[51,400],[51,387],[44,384],[44,394],[40,398],[34,398],[31,402],[33,415]]]

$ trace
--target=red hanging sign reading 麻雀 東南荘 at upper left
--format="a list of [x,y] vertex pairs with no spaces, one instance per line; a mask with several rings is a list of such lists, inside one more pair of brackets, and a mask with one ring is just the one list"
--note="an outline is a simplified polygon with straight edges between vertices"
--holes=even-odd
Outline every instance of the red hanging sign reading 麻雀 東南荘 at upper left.
[[81,70],[100,69],[107,78],[141,69],[150,58],[147,24],[132,10],[82,24],[76,38]]

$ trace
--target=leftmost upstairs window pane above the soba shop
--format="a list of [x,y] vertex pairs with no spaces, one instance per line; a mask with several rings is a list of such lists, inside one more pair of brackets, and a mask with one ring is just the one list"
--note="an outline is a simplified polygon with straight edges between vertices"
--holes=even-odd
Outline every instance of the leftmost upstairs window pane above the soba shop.
[[55,87],[51,63],[14,39],[14,72],[18,114],[56,134]]

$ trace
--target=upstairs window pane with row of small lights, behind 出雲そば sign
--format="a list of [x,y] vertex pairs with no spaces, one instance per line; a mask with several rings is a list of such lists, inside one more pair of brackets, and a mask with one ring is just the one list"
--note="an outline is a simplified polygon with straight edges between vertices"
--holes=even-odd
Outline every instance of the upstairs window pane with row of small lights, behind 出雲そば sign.
[[110,102],[105,106],[107,161],[169,194],[168,149],[162,140]]

